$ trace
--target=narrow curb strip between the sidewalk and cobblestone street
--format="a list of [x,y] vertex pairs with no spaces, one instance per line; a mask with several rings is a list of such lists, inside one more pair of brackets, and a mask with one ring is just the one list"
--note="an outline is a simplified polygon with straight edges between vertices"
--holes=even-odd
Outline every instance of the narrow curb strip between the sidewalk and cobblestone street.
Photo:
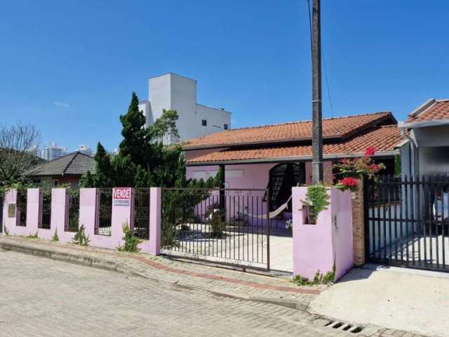
[[297,310],[305,311],[307,310],[307,305],[302,303],[298,303],[294,300],[283,300],[278,298],[259,298],[259,297],[248,297],[236,295],[235,293],[226,293],[222,291],[215,291],[206,288],[202,288],[201,286],[192,286],[190,284],[184,284],[183,282],[170,282],[166,280],[156,279],[155,277],[149,277],[147,275],[143,275],[142,273],[133,270],[133,268],[122,264],[116,263],[111,260],[107,260],[106,258],[92,258],[91,256],[86,256],[83,253],[63,253],[60,251],[54,251],[51,248],[38,248],[35,246],[28,246],[25,243],[13,243],[13,242],[1,242],[0,241],[0,249],[4,249],[5,251],[15,251],[17,253],[24,253],[32,256],[39,256],[41,258],[51,258],[52,260],[58,260],[60,262],[73,263],[75,265],[84,265],[87,267],[93,267],[101,270],[109,270],[112,272],[119,272],[124,275],[143,277],[145,279],[151,279],[154,282],[163,282],[166,284],[171,284],[173,286],[179,286],[185,289],[196,289],[202,291],[208,291],[209,293],[213,293],[215,296],[225,296],[230,298],[236,298],[239,300],[250,300],[253,302],[259,303],[270,303],[274,305],[281,305],[287,308],[293,308]]

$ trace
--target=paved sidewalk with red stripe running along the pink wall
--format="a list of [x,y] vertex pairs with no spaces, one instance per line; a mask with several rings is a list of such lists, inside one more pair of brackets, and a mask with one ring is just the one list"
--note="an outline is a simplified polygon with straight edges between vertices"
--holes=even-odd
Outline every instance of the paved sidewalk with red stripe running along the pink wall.
[[282,277],[212,267],[189,260],[76,246],[27,237],[0,237],[0,248],[139,275],[222,296],[266,301],[305,310],[325,286],[300,287]]

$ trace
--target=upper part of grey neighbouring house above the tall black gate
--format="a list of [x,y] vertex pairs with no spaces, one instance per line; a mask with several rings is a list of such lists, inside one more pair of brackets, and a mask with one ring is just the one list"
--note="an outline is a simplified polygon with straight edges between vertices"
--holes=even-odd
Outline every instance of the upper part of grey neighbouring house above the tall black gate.
[[399,128],[403,176],[449,173],[449,100],[427,100]]

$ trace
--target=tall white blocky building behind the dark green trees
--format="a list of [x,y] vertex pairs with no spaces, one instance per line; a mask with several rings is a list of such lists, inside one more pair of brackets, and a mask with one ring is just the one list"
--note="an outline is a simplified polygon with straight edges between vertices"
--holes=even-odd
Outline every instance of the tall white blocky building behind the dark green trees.
[[140,101],[139,109],[147,124],[161,117],[162,110],[176,110],[178,139],[168,137],[164,143],[177,143],[231,128],[231,112],[196,103],[196,80],[177,74],[149,79],[149,100]]

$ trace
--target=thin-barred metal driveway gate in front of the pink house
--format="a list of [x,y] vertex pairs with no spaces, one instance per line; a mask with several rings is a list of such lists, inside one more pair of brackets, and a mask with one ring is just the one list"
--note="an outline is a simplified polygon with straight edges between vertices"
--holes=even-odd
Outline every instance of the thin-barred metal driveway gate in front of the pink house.
[[162,189],[162,253],[269,270],[267,192]]

